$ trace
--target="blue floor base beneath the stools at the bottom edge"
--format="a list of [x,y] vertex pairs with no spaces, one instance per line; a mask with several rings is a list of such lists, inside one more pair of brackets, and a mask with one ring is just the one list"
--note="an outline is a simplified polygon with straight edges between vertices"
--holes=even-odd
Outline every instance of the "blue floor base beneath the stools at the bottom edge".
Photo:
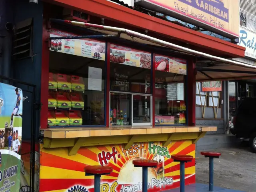
[[[233,189],[225,189],[221,187],[214,187],[213,190],[214,192],[243,192],[243,191],[238,191]],[[209,186],[206,184],[195,183],[195,184],[190,184],[185,186],[185,192],[208,192],[208,191],[209,191]],[[166,190],[165,192],[180,192],[180,188]]]

